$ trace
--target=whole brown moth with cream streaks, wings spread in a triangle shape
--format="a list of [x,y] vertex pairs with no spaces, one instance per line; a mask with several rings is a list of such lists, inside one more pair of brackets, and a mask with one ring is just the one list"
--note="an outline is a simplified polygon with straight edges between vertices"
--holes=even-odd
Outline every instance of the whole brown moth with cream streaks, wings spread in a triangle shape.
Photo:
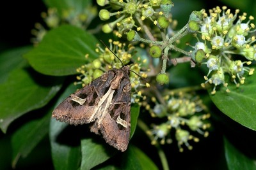
[[129,67],[112,69],[67,97],[52,117],[73,125],[90,123],[91,132],[124,152],[130,138],[130,93]]

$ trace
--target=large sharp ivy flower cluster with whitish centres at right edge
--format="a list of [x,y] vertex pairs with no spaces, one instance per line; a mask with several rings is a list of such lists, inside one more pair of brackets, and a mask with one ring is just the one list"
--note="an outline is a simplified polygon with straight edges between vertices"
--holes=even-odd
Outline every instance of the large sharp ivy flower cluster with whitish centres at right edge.
[[[202,62],[209,69],[205,78],[205,83],[214,84],[212,94],[216,93],[218,85],[224,85],[227,88],[225,74],[230,74],[232,81],[239,87],[244,84],[245,76],[253,74],[254,69],[248,67],[252,60],[256,60],[255,36],[251,36],[255,32],[255,25],[252,23],[252,16],[248,17],[243,13],[238,15],[239,10],[235,14],[230,12],[226,6],[222,8],[216,7],[209,11],[210,16],[204,11],[202,13],[204,19],[200,22],[200,35],[204,43],[198,40],[193,47],[193,53],[202,52],[202,55],[192,57],[196,62]],[[234,59],[234,55],[240,59]],[[202,83],[202,87],[205,87]],[[230,90],[226,90],[230,92]]]

